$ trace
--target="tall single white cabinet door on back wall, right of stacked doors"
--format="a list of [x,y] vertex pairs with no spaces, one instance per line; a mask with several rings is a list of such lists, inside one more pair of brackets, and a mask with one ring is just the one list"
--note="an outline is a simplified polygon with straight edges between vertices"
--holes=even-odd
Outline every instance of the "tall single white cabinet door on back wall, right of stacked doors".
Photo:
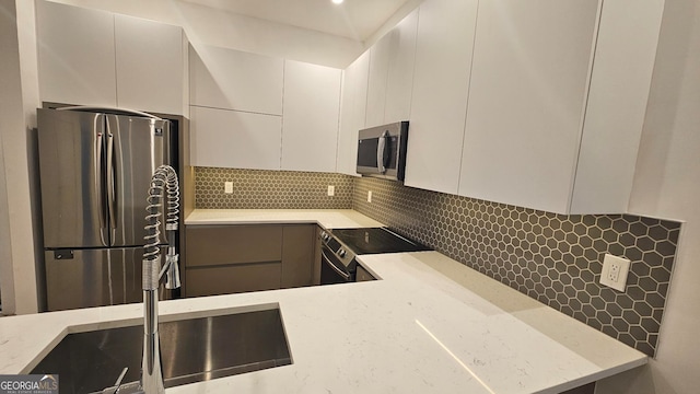
[[284,61],[282,170],[335,172],[341,71]]

